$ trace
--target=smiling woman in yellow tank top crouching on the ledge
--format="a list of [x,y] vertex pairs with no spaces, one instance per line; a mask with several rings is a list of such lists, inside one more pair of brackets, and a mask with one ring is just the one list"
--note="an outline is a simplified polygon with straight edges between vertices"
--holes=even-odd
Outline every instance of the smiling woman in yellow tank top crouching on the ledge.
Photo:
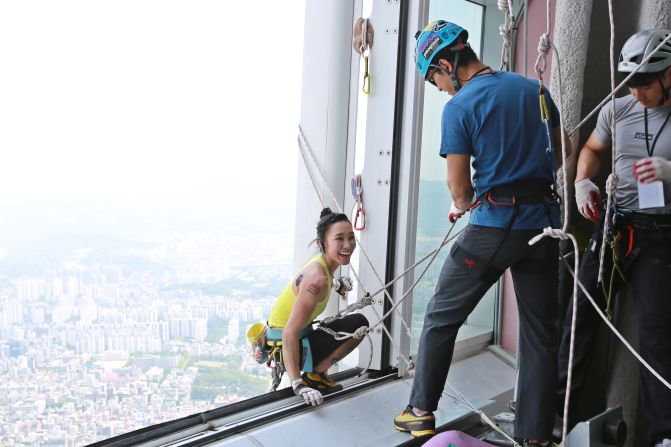
[[[311,325],[326,308],[333,273],[341,265],[349,264],[356,248],[354,230],[347,216],[324,208],[317,223],[315,242],[320,253],[296,273],[275,302],[268,318],[268,332],[281,330],[283,363],[294,393],[308,404],[320,405],[322,394],[342,389],[342,385],[329,380],[326,371],[352,352],[361,339],[335,340],[324,331],[313,331]],[[338,293],[344,295],[346,291],[338,290]],[[361,314],[350,314],[326,326],[352,333],[361,326],[368,326],[368,320]],[[305,364],[308,353],[312,371]],[[308,372],[301,375],[301,370]]]

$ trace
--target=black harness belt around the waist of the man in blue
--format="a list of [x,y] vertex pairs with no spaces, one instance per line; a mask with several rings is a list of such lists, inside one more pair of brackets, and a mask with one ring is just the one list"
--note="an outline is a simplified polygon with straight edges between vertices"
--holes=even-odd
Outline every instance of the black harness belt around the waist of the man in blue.
[[484,195],[495,206],[559,204],[561,202],[552,184],[547,180],[520,180],[492,188]]

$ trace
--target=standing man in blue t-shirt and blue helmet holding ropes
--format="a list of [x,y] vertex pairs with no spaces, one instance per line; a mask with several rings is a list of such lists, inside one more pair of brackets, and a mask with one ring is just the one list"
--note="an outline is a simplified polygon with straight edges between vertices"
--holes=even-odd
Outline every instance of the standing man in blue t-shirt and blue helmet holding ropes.
[[[469,210],[471,216],[427,306],[410,404],[394,425],[414,436],[435,433],[432,411],[457,331],[510,268],[520,320],[515,437],[543,445],[552,433],[557,386],[558,246],[547,238],[534,246],[528,241],[560,223],[553,186],[561,160],[559,113],[538,83],[495,72],[467,39],[466,30],[443,20],[417,36],[420,75],[452,97],[443,110],[440,147],[452,195],[448,218],[455,222]],[[547,104],[545,123],[540,98]]]

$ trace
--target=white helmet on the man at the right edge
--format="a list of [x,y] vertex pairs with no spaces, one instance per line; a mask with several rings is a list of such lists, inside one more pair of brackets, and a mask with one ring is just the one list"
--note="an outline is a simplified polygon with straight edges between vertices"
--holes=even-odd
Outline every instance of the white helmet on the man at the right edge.
[[657,52],[648,59],[645,65],[641,65],[657,46],[671,34],[671,31],[662,28],[652,28],[639,31],[624,43],[620,53],[620,61],[617,70],[621,72],[632,72],[639,66],[638,73],[658,73],[671,65],[671,39],[667,41]]

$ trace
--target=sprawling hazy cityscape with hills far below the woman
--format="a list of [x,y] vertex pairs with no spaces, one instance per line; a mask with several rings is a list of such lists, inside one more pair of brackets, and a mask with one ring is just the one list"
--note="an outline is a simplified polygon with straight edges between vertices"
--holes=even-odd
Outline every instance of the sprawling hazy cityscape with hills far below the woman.
[[0,239],[0,445],[81,446],[267,392],[245,332],[292,273],[293,231],[149,209],[91,231],[91,213]]

